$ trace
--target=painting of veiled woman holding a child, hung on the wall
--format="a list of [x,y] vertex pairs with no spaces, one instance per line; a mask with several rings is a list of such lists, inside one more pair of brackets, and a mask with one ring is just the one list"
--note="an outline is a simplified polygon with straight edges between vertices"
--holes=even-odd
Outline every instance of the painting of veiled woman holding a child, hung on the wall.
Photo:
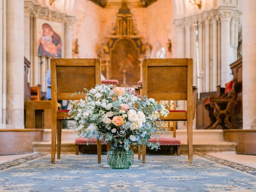
[[61,22],[36,20],[36,51],[39,56],[62,57],[62,26]]

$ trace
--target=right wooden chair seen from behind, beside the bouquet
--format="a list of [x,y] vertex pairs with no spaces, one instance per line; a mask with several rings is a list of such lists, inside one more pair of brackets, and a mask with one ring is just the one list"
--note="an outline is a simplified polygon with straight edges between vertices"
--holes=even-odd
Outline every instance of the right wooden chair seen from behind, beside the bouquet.
[[[142,95],[155,100],[186,100],[187,110],[170,111],[166,121],[187,121],[188,159],[193,163],[192,124],[196,106],[193,60],[145,59],[142,66]],[[142,146],[142,163],[146,162],[146,146]]]

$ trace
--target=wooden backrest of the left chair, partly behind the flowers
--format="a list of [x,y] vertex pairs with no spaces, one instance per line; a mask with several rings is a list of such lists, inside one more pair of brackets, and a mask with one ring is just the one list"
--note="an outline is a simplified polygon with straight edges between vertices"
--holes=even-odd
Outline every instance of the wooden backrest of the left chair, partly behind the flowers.
[[80,100],[84,88],[101,84],[100,59],[51,59],[52,100]]

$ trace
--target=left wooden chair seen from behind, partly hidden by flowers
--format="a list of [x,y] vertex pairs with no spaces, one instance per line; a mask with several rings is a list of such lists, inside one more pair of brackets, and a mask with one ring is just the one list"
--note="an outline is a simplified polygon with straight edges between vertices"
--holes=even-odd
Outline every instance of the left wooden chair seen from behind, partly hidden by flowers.
[[[68,117],[68,110],[58,110],[58,100],[80,100],[84,88],[90,90],[101,83],[100,59],[51,59],[52,89],[52,158],[55,162],[56,135],[58,135],[57,158],[60,159],[62,120]],[[57,133],[56,133],[57,131]],[[98,164],[101,162],[101,142],[97,141]]]

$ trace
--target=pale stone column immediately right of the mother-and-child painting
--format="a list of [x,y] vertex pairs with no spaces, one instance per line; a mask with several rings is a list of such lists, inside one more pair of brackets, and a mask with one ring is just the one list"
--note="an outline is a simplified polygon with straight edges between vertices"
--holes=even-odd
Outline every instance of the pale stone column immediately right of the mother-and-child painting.
[[64,38],[64,58],[72,58],[72,25],[74,24],[74,16],[67,16],[64,24],[65,38]]

